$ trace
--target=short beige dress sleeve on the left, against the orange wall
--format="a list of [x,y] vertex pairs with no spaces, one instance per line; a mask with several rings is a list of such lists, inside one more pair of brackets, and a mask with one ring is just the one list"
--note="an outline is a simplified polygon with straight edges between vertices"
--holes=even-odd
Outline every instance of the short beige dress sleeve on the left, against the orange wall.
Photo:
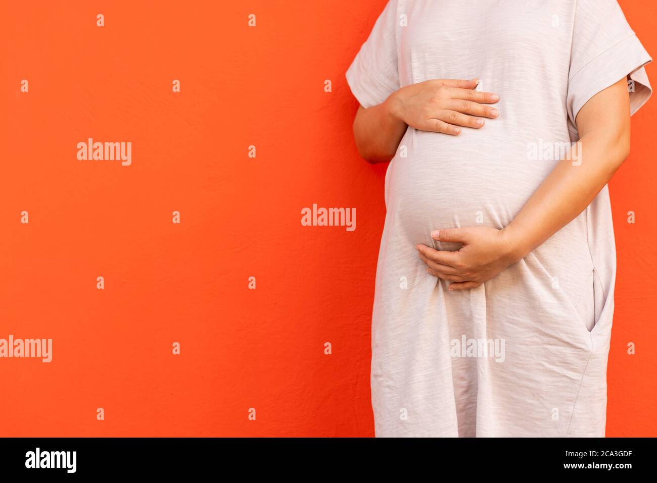
[[397,0],[388,0],[346,73],[351,92],[364,108],[381,104],[399,89],[396,29]]

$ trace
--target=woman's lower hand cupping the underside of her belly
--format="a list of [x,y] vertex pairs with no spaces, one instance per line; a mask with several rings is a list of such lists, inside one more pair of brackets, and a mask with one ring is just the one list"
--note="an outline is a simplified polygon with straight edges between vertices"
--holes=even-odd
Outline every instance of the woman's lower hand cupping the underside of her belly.
[[434,240],[446,243],[463,243],[457,251],[436,250],[417,245],[420,259],[427,272],[452,282],[450,290],[473,289],[491,280],[516,263],[516,248],[503,230],[489,226],[445,228],[431,234]]

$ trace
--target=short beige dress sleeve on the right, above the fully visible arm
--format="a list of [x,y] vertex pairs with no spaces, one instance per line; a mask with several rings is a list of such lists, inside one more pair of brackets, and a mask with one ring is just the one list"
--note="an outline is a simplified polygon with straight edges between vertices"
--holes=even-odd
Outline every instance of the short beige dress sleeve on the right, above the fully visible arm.
[[568,117],[575,126],[581,107],[629,75],[630,115],[652,94],[643,48],[616,0],[576,0],[568,74]]

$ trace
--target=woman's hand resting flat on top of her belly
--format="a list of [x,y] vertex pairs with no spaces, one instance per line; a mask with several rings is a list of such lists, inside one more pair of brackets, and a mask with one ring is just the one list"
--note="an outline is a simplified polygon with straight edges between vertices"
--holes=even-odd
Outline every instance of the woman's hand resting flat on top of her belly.
[[458,135],[463,127],[477,129],[484,117],[497,117],[486,106],[499,100],[494,93],[475,91],[476,80],[431,79],[402,87],[386,100],[394,117],[420,131]]

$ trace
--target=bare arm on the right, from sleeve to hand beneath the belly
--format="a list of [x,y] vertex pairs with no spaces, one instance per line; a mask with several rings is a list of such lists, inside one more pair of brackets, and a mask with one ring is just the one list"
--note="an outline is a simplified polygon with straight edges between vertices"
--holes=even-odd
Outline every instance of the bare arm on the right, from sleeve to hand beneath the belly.
[[436,240],[463,246],[458,251],[438,251],[417,245],[428,272],[456,282],[450,290],[477,287],[575,219],[627,158],[629,115],[629,94],[623,78],[579,110],[576,123],[581,162],[574,163],[567,154],[502,230],[468,226],[433,232]]

